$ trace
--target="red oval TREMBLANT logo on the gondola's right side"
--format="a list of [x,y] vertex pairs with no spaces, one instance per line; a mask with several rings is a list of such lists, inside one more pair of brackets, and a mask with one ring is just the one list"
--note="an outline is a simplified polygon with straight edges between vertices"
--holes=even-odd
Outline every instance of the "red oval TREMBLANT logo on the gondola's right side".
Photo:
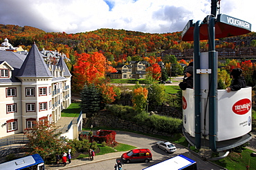
[[233,105],[232,111],[234,111],[235,114],[243,115],[250,110],[251,106],[252,103],[250,102],[250,99],[243,98]]

